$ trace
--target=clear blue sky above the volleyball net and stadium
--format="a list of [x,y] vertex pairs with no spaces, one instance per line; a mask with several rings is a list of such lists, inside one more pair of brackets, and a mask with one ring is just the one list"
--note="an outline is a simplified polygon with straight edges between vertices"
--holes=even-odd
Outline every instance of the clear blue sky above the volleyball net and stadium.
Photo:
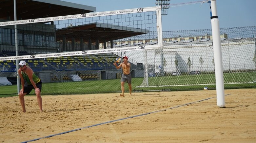
[[[156,0],[63,0],[96,7],[96,12],[154,7]],[[211,29],[208,3],[184,5],[202,0],[170,0],[168,15],[162,16],[163,31]],[[217,0],[220,28],[256,26],[256,0]],[[176,6],[176,5],[175,5]]]

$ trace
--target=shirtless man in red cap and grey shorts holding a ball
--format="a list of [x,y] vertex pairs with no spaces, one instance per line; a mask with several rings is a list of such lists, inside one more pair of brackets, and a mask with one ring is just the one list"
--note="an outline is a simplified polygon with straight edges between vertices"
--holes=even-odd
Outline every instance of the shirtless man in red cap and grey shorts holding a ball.
[[128,63],[127,56],[123,57],[123,61],[124,62],[119,64],[118,66],[116,65],[116,63],[114,63],[114,65],[116,66],[117,69],[119,69],[120,67],[122,67],[122,69],[123,69],[123,74],[122,74],[122,78],[121,78],[122,94],[120,94],[120,96],[125,96],[125,87],[124,87],[125,82],[128,83],[129,91],[130,91],[129,95],[131,96],[131,73],[130,73],[131,64]]

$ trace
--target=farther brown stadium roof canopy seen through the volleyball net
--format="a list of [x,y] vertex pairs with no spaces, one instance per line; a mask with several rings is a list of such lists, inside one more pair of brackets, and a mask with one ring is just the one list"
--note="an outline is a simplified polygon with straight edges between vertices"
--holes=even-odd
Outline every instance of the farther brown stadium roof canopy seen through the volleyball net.
[[104,23],[90,23],[79,26],[72,26],[56,30],[56,40],[63,40],[65,37],[68,41],[75,38],[79,41],[81,38],[84,40],[91,39],[92,42],[99,40],[99,42],[111,41],[122,39],[131,36],[137,36],[148,33],[149,30],[104,24]]

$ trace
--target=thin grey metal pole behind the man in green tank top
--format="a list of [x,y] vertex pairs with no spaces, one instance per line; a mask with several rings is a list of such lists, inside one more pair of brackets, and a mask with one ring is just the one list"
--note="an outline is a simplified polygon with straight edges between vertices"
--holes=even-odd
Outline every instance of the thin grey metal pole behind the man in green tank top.
[[[13,5],[14,5],[14,21],[17,21],[17,15],[16,15],[16,0],[13,0]],[[15,34],[15,51],[16,51],[16,56],[19,55],[18,51],[18,30],[17,30],[17,25],[14,25],[14,34]],[[16,76],[17,76],[17,93],[19,94],[20,92],[20,78],[19,78],[19,60],[16,60]]]

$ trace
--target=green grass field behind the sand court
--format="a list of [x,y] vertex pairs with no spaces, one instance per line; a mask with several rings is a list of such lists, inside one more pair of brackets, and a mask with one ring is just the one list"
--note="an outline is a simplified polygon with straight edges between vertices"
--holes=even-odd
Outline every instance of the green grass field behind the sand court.
[[[232,77],[232,78],[231,78]],[[248,73],[225,73],[224,82],[246,82],[254,81],[256,77],[255,72]],[[143,87],[136,88],[141,85],[143,78],[132,79],[133,92],[137,91],[181,91],[181,90],[202,90],[205,86],[209,89],[215,89],[215,85],[207,85],[207,83],[215,83],[214,74],[201,75],[181,75],[181,76],[164,76],[148,79],[149,86],[155,85],[184,85],[191,86],[164,86],[164,87]],[[254,79],[253,79],[254,78]],[[194,84],[194,85],[193,85]],[[201,85],[196,85],[201,84]],[[231,88],[256,88],[256,83],[242,83],[242,84],[225,84],[225,89]],[[125,84],[125,91],[128,92],[128,84]],[[89,93],[114,93],[121,92],[120,79],[108,80],[90,80],[77,82],[55,82],[43,83],[42,94],[89,94]],[[30,94],[34,94],[34,90]],[[0,86],[0,97],[17,96],[17,85]]]

